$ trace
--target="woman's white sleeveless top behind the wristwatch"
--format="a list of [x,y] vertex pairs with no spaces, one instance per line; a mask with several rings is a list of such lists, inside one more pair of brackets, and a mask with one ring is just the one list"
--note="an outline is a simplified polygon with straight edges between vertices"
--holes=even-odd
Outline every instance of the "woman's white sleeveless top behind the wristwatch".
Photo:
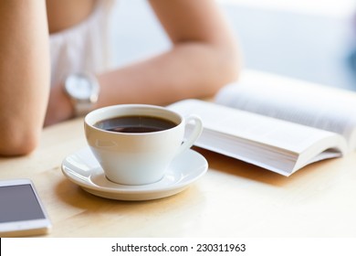
[[72,72],[100,72],[110,66],[111,1],[99,0],[93,13],[75,27],[51,34],[51,86]]

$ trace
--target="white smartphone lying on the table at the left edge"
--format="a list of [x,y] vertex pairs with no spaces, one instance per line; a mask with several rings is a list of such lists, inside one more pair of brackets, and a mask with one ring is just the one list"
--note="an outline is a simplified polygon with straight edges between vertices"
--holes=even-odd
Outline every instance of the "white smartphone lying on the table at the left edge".
[[0,237],[45,234],[50,228],[31,180],[0,180]]

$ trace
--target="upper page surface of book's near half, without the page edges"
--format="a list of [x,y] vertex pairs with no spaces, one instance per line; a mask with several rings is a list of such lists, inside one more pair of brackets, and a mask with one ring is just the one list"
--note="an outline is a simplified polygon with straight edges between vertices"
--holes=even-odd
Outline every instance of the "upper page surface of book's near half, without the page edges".
[[288,154],[299,155],[320,140],[334,136],[334,133],[298,123],[289,123],[206,101],[179,101],[169,108],[184,115],[194,113],[200,116],[204,130],[243,138],[260,146],[266,145],[270,150],[285,151]]

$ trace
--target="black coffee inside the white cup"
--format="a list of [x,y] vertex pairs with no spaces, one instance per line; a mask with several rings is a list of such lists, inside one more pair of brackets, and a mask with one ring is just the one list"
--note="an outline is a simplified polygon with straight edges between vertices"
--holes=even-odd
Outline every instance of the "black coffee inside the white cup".
[[167,119],[147,115],[119,116],[99,121],[95,127],[117,133],[153,133],[177,126]]

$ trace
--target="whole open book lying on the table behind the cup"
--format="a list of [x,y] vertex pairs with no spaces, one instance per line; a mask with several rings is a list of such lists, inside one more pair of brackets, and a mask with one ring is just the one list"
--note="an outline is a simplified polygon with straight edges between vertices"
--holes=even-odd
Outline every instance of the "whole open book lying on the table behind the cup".
[[[356,149],[356,93],[286,80],[225,86],[215,102],[178,101],[204,132],[195,145],[289,176]],[[189,133],[189,126],[188,126]]]

